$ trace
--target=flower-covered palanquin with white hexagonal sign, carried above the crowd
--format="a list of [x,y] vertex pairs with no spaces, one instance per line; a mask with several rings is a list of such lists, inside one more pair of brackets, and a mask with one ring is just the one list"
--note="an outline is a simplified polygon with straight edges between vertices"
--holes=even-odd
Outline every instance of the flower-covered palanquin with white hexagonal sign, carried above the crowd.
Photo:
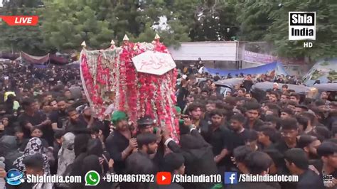
[[158,37],[152,43],[124,38],[121,47],[112,43],[106,50],[83,48],[80,63],[83,88],[98,117],[105,117],[107,107],[114,104],[127,112],[130,121],[150,115],[177,140],[175,67]]

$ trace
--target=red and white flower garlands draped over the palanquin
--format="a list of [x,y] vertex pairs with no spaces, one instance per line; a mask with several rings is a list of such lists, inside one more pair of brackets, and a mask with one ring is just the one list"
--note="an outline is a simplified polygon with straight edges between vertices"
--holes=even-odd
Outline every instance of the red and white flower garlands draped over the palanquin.
[[[166,46],[155,41],[154,51],[161,53],[169,53]],[[137,121],[144,114],[157,118],[158,126],[166,126],[166,130],[171,133],[171,137],[178,141],[178,119],[175,117],[174,105],[176,104],[175,85],[177,72],[176,69],[170,70],[164,75],[150,75],[137,72],[132,63],[132,58],[136,55],[149,50],[141,46],[141,43],[129,43],[126,41],[122,46],[119,58],[111,60],[114,68],[102,68],[102,53],[97,57],[97,75],[96,84],[87,65],[87,57],[85,53],[82,55],[82,77],[85,80],[88,94],[95,107],[102,107],[103,99],[100,94],[100,88],[109,85],[112,69],[118,69],[119,78],[111,78],[113,85],[118,86],[117,107],[119,110],[127,111],[131,121]],[[119,66],[117,65],[119,61]],[[102,112],[102,109],[100,109]]]

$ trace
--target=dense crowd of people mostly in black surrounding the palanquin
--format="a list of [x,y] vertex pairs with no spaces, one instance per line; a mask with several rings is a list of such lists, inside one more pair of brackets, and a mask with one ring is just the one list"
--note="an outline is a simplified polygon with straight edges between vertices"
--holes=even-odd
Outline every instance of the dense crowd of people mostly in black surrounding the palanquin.
[[[80,175],[82,180],[91,170],[101,178],[110,173],[234,171],[298,175],[299,182],[157,185],[101,180],[91,188],[337,188],[337,103],[328,101],[328,92],[303,99],[287,85],[283,90],[273,87],[258,101],[250,93],[250,77],[223,96],[214,84],[217,78],[199,85],[196,75],[183,75],[174,107],[180,137],[174,141],[156,125],[160,120],[149,116],[132,123],[128,112],[115,110],[111,119],[97,119],[85,94],[74,90],[82,87],[78,68],[9,65],[0,82],[0,178],[11,168],[33,175]],[[324,175],[332,175],[331,182],[324,182]],[[16,188],[90,186],[83,181],[21,183]]]

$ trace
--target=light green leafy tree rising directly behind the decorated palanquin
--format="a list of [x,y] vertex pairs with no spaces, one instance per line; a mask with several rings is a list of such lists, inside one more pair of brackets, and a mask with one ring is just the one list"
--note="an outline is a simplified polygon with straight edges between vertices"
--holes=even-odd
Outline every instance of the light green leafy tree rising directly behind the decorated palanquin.
[[[151,42],[156,32],[166,45],[189,41],[188,26],[165,6],[161,0],[48,1],[43,13],[43,38],[48,48],[58,50],[78,49],[82,41],[88,48],[107,48],[111,39],[118,45],[126,33],[134,41]],[[163,17],[168,18],[168,27],[156,28]]]

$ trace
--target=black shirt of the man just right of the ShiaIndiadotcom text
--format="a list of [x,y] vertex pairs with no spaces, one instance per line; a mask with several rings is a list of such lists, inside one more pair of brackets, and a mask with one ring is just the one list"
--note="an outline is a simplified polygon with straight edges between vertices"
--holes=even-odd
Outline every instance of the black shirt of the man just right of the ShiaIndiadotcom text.
[[314,171],[307,170],[299,175],[299,183],[297,189],[323,189],[323,178]]

